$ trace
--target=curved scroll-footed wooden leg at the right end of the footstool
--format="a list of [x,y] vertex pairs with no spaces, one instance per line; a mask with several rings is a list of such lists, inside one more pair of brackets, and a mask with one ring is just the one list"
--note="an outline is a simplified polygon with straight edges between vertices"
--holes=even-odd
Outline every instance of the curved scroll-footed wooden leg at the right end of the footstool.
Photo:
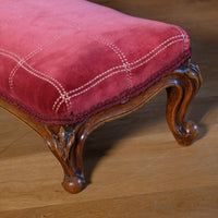
[[187,146],[197,135],[197,125],[192,121],[185,122],[185,113],[202,77],[198,68],[191,62],[183,70],[173,72],[173,84],[167,88],[167,121],[178,143]]

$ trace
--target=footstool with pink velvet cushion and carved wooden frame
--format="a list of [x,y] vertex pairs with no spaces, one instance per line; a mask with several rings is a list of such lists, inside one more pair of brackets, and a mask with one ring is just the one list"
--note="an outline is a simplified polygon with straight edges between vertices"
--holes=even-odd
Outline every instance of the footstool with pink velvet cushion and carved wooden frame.
[[84,184],[83,146],[99,125],[167,89],[167,121],[190,145],[184,120],[202,83],[180,27],[132,17],[85,0],[1,1],[0,106],[46,141],[63,186]]

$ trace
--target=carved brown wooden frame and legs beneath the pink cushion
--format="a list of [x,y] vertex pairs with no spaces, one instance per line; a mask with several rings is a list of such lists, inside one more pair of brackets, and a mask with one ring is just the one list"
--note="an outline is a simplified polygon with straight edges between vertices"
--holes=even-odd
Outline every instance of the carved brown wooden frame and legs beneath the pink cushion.
[[85,183],[82,158],[87,136],[99,125],[137,110],[162,89],[167,89],[168,94],[167,121],[169,128],[179,144],[190,145],[197,135],[197,126],[191,121],[185,121],[185,112],[201,84],[199,70],[189,60],[128,102],[104,110],[83,122],[69,125],[43,124],[2,99],[0,99],[0,107],[35,130],[46,141],[62,165],[63,187],[70,193],[77,193]]

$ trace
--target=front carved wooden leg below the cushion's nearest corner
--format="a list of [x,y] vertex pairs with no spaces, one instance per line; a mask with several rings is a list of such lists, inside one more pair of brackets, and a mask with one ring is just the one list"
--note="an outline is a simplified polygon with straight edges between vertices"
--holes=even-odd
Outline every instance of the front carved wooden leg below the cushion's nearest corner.
[[82,123],[47,126],[49,137],[46,142],[62,165],[64,171],[62,185],[70,193],[78,193],[85,183],[82,153],[86,136],[80,131],[81,125]]

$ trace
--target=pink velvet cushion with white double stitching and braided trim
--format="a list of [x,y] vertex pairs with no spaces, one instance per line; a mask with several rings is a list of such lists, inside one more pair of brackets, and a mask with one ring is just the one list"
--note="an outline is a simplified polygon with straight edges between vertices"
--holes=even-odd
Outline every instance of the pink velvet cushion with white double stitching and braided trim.
[[43,123],[121,104],[190,56],[174,25],[85,0],[0,0],[0,97]]

